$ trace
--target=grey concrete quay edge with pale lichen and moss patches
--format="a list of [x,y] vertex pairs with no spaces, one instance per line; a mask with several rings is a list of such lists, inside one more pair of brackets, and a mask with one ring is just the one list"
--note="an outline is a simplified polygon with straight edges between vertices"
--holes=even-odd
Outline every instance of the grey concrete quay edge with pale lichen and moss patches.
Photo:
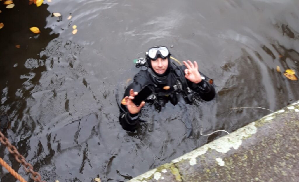
[[129,182],[299,181],[299,101]]

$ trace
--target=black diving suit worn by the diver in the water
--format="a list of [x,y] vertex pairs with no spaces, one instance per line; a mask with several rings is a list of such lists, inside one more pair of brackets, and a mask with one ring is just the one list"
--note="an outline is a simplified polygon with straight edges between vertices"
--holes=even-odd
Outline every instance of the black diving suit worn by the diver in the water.
[[[170,68],[169,74],[164,81],[158,82],[153,74],[151,74],[151,68],[144,67],[139,71],[134,77],[134,81],[126,88],[125,96],[129,96],[129,90],[133,89],[134,92],[139,92],[145,86],[148,86],[153,93],[155,94],[155,106],[163,107],[168,101],[176,105],[178,102],[185,100],[188,104],[191,104],[190,97],[188,99],[187,95],[192,95],[193,92],[197,92],[202,100],[210,101],[215,97],[215,89],[208,82],[208,78],[205,77],[202,73],[202,81],[198,84],[195,84],[184,77],[183,70],[186,67],[177,66],[173,62]],[[168,89],[168,86],[170,87]],[[164,88],[167,88],[165,90]],[[189,89],[189,92],[187,90]],[[192,91],[191,91],[192,90]],[[135,131],[139,124],[139,113],[131,114],[127,111],[125,105],[121,104],[122,109],[120,109],[120,124],[123,129],[127,131]],[[124,112],[126,111],[126,112]]]

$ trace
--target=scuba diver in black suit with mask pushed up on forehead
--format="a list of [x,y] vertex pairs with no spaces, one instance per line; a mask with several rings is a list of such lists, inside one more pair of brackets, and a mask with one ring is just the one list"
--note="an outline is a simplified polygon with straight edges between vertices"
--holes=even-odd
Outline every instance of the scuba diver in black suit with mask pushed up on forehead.
[[[123,129],[133,132],[138,128],[145,101],[152,102],[160,110],[168,101],[184,107],[185,103],[192,104],[194,95],[205,101],[215,97],[212,80],[199,72],[196,61],[183,61],[184,65],[178,65],[168,48],[160,45],[150,48],[145,56],[144,63],[147,65],[134,76],[119,104]],[[192,128],[188,129],[189,137]]]

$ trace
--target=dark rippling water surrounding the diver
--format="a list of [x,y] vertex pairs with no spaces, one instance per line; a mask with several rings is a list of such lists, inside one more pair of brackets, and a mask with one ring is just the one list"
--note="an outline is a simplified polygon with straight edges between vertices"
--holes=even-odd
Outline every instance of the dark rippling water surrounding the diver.
[[[126,181],[225,135],[200,136],[200,127],[232,132],[269,114],[232,107],[277,110],[299,99],[298,81],[276,71],[299,73],[297,0],[14,3],[0,5],[0,112],[12,121],[5,135],[44,180]],[[215,100],[188,106],[191,138],[171,104],[159,113],[145,106],[148,122],[137,133],[118,123],[115,88],[123,94],[138,72],[132,60],[156,44],[198,61],[216,84]],[[30,181],[3,145],[0,151]],[[0,176],[16,181],[3,169]]]

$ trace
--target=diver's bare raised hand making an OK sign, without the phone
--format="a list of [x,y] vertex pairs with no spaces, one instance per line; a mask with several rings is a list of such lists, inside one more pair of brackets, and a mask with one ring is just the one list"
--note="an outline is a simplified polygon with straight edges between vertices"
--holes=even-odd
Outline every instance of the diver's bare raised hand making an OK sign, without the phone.
[[187,67],[187,69],[184,70],[185,72],[185,78],[189,81],[192,81],[193,83],[198,84],[202,81],[202,77],[200,76],[200,73],[198,71],[198,65],[196,61],[194,61],[194,64],[188,60],[188,63],[186,61],[183,61],[184,65]]

